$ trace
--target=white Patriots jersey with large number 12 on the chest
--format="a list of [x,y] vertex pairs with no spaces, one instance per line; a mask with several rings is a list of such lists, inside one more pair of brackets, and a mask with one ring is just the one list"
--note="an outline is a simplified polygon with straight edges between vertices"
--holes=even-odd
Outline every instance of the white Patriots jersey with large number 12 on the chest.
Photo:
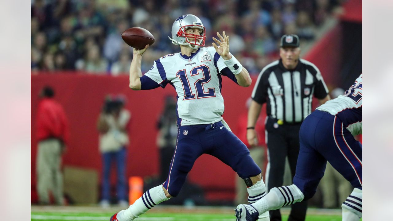
[[154,61],[145,76],[161,87],[173,85],[178,97],[178,124],[207,124],[222,120],[220,72],[224,68],[222,57],[210,46],[199,48],[189,57],[181,53],[165,55]]

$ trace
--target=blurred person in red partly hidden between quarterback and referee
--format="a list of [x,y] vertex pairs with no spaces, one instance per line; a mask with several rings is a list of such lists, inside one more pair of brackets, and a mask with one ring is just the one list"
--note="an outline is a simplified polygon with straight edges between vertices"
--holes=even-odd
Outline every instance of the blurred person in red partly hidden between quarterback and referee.
[[[247,119],[248,119],[248,108],[250,107],[251,98],[246,101],[245,109],[242,114],[239,115],[237,121],[237,127],[235,128],[235,135],[246,144],[247,148],[250,150],[250,156],[254,160],[254,162],[262,169],[262,171],[266,171],[266,143],[265,143],[265,123],[264,120],[266,118],[266,111],[261,111],[261,115],[259,116],[257,123],[255,124],[255,131],[257,131],[258,136],[258,145],[250,146],[247,141]],[[235,184],[236,184],[236,196],[235,196],[235,204],[247,203],[247,190],[244,188],[244,180],[235,176]]]

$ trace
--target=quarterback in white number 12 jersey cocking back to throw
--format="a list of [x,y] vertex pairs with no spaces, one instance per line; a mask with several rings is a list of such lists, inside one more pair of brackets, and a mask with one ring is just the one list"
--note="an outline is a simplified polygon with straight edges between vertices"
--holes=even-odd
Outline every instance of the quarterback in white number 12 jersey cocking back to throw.
[[[204,153],[219,158],[244,179],[250,203],[266,195],[261,169],[250,157],[246,145],[222,119],[221,76],[248,87],[251,85],[250,75],[229,52],[229,36],[225,32],[222,35],[217,32],[218,39],[213,37],[213,46],[202,47],[205,33],[202,21],[195,15],[177,18],[169,39],[180,46],[181,52],[154,61],[152,68],[143,76],[141,60],[149,45],[141,50],[134,49],[129,86],[132,90],[149,90],[167,84],[174,87],[177,93],[178,137],[167,180],[145,192],[127,210],[114,214],[110,221],[134,220],[156,204],[176,197],[195,160]],[[259,220],[268,221],[269,213],[259,215]]]

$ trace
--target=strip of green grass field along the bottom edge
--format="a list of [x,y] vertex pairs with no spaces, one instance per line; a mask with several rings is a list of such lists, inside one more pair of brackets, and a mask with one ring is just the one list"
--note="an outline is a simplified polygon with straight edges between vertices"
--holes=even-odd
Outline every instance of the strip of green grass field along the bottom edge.
[[[156,209],[141,215],[136,221],[235,221],[233,209],[229,207],[157,206]],[[108,221],[110,216],[121,208],[102,209],[99,207],[77,206],[32,206],[33,221]],[[283,221],[288,218],[288,209],[283,209]],[[340,210],[309,209],[306,221],[341,221]]]

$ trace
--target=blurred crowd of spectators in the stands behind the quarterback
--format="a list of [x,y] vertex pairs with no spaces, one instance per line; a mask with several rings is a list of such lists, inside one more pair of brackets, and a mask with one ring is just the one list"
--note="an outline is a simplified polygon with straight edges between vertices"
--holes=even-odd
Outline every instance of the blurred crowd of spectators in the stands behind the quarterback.
[[251,74],[278,58],[279,38],[312,41],[318,27],[345,0],[32,0],[31,73],[77,70],[128,75],[132,48],[121,39],[131,27],[149,30],[156,41],[143,56],[142,72],[159,57],[180,52],[171,36],[180,15],[198,16],[206,46],[216,32],[230,36],[230,51]]

